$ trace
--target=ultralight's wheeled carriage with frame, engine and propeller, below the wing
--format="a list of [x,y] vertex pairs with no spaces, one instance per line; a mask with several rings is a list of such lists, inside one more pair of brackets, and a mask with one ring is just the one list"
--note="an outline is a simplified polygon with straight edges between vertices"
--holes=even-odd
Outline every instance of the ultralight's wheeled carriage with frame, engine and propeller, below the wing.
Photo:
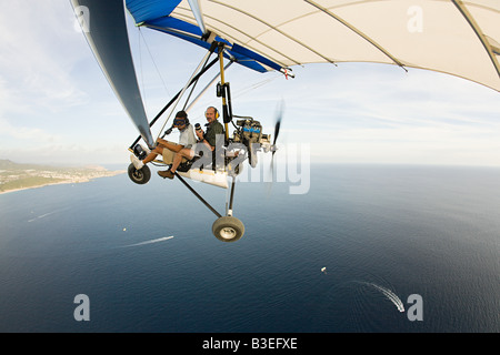
[[[221,144],[216,145],[213,156],[209,156],[207,159],[207,155],[204,155],[199,160],[197,159],[198,156],[192,160],[183,159],[178,170],[176,171],[176,176],[218,217],[212,225],[213,235],[223,242],[234,242],[241,239],[244,233],[243,223],[239,219],[233,216],[236,178],[241,172],[243,168],[242,164],[246,160],[248,160],[248,163],[251,168],[256,168],[258,161],[258,152],[272,152],[272,154],[274,154],[277,150],[276,142],[281,125],[281,111],[277,118],[277,123],[274,125],[272,143],[271,135],[262,133],[262,125],[259,121],[254,120],[251,116],[240,116],[232,113],[230,85],[229,82],[224,82],[223,48],[224,43],[217,41],[212,42],[209,53],[202,60],[204,65],[201,67],[198,74],[193,75],[193,78],[190,79],[187,87],[180,91],[179,97],[182,95],[183,91],[191,85],[194,87],[194,83],[199,80],[201,74],[206,72],[207,69],[219,62],[221,81],[217,84],[217,95],[222,99],[224,136],[222,138],[222,140],[219,140]],[[209,57],[216,50],[218,50],[217,58],[208,63]],[[174,99],[177,100],[178,98],[176,97]],[[170,101],[163,110],[167,110],[172,103],[174,103],[174,100]],[[218,119],[219,112],[217,111],[217,109],[216,113],[216,119]],[[161,115],[161,113],[159,115]],[[152,120],[151,125],[154,124],[154,122],[156,120]],[[229,123],[231,123],[234,128],[232,136],[229,136],[228,133]],[[171,129],[167,130],[163,136],[169,134],[170,132]],[[147,150],[144,146],[138,143],[140,139],[141,138],[139,136],[130,145],[129,150],[133,152],[137,158],[143,160],[147,155]],[[159,166],[167,166],[171,164],[171,161],[164,162],[162,160],[156,160],[153,161],[153,164]],[[128,173],[130,179],[138,184],[146,184],[151,176],[151,171],[148,165],[143,165],[138,170],[133,164],[130,164]],[[219,212],[217,212],[217,210],[213,209],[183,178],[223,189],[229,187],[228,178],[230,178],[231,191],[228,196],[229,201],[226,202],[226,214],[221,215]]]

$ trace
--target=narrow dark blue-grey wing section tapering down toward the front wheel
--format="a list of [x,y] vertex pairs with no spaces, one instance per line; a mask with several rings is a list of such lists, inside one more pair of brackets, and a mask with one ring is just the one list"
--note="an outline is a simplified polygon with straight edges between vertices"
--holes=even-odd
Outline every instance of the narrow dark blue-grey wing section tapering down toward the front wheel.
[[[71,0],[71,4],[80,21],[86,21],[81,23],[83,32],[111,88],[144,142],[152,146],[154,141],[130,53],[123,1]],[[80,17],[82,12],[88,12],[88,19]]]

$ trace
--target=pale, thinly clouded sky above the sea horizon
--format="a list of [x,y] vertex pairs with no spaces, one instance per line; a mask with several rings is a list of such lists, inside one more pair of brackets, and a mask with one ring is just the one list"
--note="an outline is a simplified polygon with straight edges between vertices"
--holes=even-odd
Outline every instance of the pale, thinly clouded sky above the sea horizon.
[[[0,159],[128,165],[138,132],[76,26],[70,2],[0,4]],[[128,21],[151,120],[204,51]],[[293,73],[286,80],[234,64],[226,79],[233,112],[259,120],[268,133],[282,103],[279,143],[284,150],[307,146],[311,162],[500,166],[499,92],[387,64],[306,64]],[[208,105],[221,106],[214,88],[189,111],[191,122],[204,123]]]

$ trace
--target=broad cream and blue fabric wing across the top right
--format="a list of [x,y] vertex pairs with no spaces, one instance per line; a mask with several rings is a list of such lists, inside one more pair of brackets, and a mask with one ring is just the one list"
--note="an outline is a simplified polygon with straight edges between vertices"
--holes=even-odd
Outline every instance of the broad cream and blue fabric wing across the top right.
[[[190,2],[197,2],[194,11]],[[260,72],[377,62],[461,77],[500,91],[498,0],[126,0],[139,26]],[[201,16],[201,18],[200,18]],[[203,36],[204,34],[204,36]]]

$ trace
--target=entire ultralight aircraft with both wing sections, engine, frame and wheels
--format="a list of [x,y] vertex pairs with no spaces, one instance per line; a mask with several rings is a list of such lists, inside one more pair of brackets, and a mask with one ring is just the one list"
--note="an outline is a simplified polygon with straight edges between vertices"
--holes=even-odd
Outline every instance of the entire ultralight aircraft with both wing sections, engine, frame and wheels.
[[[236,176],[242,161],[256,166],[257,151],[276,152],[273,136],[259,121],[231,109],[224,69],[238,63],[256,72],[281,72],[306,63],[372,62],[418,68],[464,78],[500,91],[500,2],[486,0],[70,0],[83,33],[140,136],[129,150],[143,156],[156,140],[151,126],[170,109],[160,134],[181,98],[189,98],[201,75],[219,63],[217,95],[222,100],[223,148],[239,144],[241,154],[222,154],[222,164],[183,163],[177,178],[216,215],[212,232],[221,241],[239,240],[244,227],[233,216]],[[182,90],[151,121],[146,115],[130,52],[126,8],[136,26],[160,31],[207,49]],[[210,60],[214,54],[217,58]],[[229,61],[224,67],[224,60]],[[219,77],[218,75],[218,77]],[[217,80],[216,77],[212,81]],[[236,122],[234,122],[236,121]],[[229,136],[229,124],[234,133]],[[160,135],[159,134],[159,135]],[[272,142],[271,142],[272,140]],[[271,161],[272,162],[272,161]],[[157,164],[164,162],[158,161]],[[129,166],[130,179],[147,183],[151,172]],[[202,181],[231,193],[221,215],[184,180]]]

